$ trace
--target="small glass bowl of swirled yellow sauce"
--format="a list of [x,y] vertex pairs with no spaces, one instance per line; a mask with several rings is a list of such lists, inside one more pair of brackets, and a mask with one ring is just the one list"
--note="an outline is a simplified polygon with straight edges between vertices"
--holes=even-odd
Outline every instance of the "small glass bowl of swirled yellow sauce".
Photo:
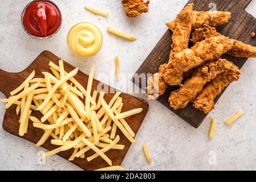
[[78,23],[68,32],[67,44],[75,55],[90,57],[99,52],[103,36],[98,27],[92,23]]

